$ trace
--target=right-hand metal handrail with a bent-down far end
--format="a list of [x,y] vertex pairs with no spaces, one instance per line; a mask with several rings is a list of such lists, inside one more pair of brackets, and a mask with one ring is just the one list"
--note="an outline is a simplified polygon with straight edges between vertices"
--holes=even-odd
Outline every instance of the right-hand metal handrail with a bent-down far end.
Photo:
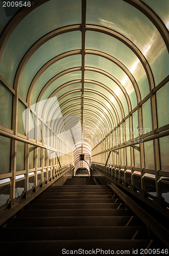
[[114,146],[114,148],[112,148],[112,149],[109,151],[109,153],[108,153],[105,166],[107,165],[107,162],[108,162],[108,159],[109,159],[109,157],[110,157],[111,152],[114,152],[114,151],[116,151],[116,150],[120,150],[121,148],[124,148],[124,147],[133,146],[133,145],[136,145],[136,144],[138,144],[138,143],[143,143],[143,142],[147,142],[147,141],[150,141],[150,140],[155,140],[155,139],[158,139],[158,138],[162,138],[162,137],[165,137],[165,136],[168,136],[168,135],[169,135],[169,130],[167,130],[167,131],[165,131],[165,132],[162,132],[162,133],[159,133],[159,134],[151,135],[151,136],[146,137],[146,138],[140,137],[140,139],[137,139],[136,141],[127,143],[127,144],[122,145],[122,146],[118,146],[118,147]]

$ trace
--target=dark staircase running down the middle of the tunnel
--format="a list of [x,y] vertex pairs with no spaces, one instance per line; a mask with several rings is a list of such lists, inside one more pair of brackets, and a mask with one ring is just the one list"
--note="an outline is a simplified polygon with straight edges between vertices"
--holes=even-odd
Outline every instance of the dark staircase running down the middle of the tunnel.
[[113,250],[114,255],[117,250],[122,251],[118,255],[138,250],[140,255],[140,248],[158,247],[146,226],[112,190],[88,177],[68,179],[63,186],[54,183],[0,231],[1,255],[58,256],[68,254],[66,250],[79,255],[74,252],[78,249],[84,250],[81,254],[88,250],[97,255],[103,254],[99,250]]

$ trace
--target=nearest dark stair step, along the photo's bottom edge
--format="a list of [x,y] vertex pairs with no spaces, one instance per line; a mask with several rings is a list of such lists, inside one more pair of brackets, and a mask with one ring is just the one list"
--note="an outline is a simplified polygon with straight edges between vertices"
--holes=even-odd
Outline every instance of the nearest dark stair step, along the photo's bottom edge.
[[[107,239],[107,240],[53,240],[53,241],[10,241],[0,242],[1,253],[5,255],[8,250],[9,253],[13,255],[18,255],[18,251],[24,251],[24,256],[32,254],[33,248],[36,251],[36,255],[50,255],[50,256],[60,256],[64,254],[84,254],[93,253],[97,255],[103,255],[103,250],[106,254],[114,255],[134,255],[140,254],[140,249],[147,248],[151,244],[150,248],[157,248],[157,242],[151,240],[123,240],[123,239]],[[75,250],[75,251],[74,251]],[[82,251],[83,250],[83,251]],[[66,252],[67,251],[67,252]],[[116,252],[118,251],[118,254]],[[121,253],[122,252],[122,253]],[[67,255],[66,254],[66,255]],[[85,255],[85,254],[84,254]]]

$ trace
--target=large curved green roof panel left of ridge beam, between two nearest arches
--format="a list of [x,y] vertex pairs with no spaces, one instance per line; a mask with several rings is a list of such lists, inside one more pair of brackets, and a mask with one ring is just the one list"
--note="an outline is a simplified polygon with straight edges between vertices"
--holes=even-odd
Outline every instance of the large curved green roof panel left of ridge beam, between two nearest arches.
[[[81,1],[78,0],[50,0],[31,11],[7,41],[0,66],[2,76],[12,86],[20,60],[39,38],[60,27],[80,23]],[[68,35],[65,39],[69,41]]]

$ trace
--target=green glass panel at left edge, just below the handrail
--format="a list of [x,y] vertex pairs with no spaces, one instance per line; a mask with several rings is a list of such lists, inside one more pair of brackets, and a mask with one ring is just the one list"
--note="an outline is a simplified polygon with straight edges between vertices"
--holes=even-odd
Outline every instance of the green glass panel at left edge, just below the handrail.
[[11,164],[11,139],[0,136],[0,174],[10,172]]

